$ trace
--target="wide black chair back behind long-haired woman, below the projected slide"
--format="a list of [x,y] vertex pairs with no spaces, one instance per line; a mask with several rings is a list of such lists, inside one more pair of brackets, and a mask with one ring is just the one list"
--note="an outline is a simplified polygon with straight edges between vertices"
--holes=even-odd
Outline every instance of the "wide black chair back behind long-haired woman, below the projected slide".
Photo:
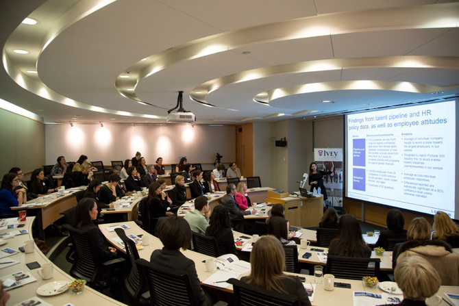
[[[374,264],[374,268],[369,265]],[[380,279],[380,258],[356,258],[343,256],[327,256],[325,274],[332,274],[338,279],[362,280],[362,277],[371,276]]]

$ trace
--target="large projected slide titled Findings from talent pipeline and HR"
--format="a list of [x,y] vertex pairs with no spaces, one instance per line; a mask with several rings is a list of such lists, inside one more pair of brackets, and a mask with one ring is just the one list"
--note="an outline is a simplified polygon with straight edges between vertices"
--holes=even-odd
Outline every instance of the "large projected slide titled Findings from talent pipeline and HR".
[[456,101],[349,114],[345,133],[347,197],[458,219]]

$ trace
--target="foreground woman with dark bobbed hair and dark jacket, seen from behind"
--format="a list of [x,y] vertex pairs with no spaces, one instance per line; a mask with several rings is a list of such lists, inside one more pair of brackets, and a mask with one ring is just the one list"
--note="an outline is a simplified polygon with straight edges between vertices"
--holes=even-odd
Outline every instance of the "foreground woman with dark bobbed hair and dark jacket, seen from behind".
[[164,247],[151,253],[150,262],[170,270],[186,271],[200,305],[206,303],[206,294],[197,277],[195,262],[180,252],[180,248],[186,250],[190,247],[192,235],[188,222],[177,216],[165,218],[158,225],[157,233]]

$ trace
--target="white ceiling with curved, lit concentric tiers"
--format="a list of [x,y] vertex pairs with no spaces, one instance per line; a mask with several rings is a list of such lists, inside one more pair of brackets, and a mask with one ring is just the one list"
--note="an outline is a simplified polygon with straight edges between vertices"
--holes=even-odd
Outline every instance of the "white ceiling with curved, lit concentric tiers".
[[0,99],[46,122],[162,123],[179,90],[203,124],[459,94],[458,1],[15,0],[0,25]]

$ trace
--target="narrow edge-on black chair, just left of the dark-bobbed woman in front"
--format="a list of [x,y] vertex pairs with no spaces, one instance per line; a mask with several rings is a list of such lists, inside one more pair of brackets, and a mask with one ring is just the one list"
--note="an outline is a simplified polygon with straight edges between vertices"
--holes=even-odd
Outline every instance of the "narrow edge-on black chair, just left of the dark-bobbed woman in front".
[[125,290],[134,302],[134,305],[138,305],[139,303],[145,304],[150,294],[145,278],[140,277],[140,272],[136,264],[136,260],[140,258],[138,256],[136,244],[134,241],[127,238],[124,229],[115,229],[115,232],[116,235],[123,240],[126,248],[127,271],[124,277]]

